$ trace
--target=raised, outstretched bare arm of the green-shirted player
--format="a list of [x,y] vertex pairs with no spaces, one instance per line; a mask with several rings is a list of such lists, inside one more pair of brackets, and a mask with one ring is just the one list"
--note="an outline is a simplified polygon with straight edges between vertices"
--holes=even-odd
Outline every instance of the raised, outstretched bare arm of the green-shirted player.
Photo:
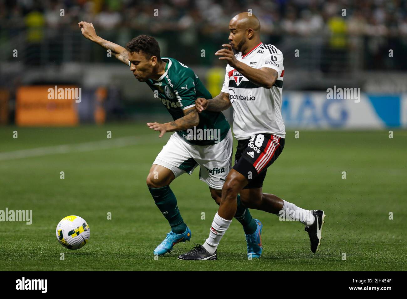
[[78,26],[79,28],[81,28],[82,35],[84,37],[107,50],[111,50],[114,57],[116,57],[118,60],[125,63],[126,65],[129,65],[129,55],[126,48],[123,48],[122,46],[119,46],[98,36],[92,23],[82,21],[78,23]]

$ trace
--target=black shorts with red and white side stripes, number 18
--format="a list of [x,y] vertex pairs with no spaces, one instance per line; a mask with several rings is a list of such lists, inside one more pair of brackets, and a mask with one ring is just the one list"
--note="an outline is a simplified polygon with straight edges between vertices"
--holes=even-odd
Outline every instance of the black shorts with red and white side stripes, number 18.
[[233,169],[240,172],[249,183],[243,189],[261,188],[267,167],[273,164],[284,148],[284,138],[267,133],[238,140]]

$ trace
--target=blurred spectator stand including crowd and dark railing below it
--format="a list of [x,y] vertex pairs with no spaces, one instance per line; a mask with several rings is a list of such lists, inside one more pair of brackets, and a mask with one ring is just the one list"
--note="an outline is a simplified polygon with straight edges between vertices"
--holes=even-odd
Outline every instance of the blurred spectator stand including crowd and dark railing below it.
[[[264,43],[285,52],[301,48],[300,68],[407,69],[400,59],[407,0],[0,0],[0,61],[20,48],[26,65],[112,62],[100,49],[84,50],[90,44],[78,30],[83,20],[121,45],[153,35],[165,55],[192,64],[193,53],[215,52],[227,41],[230,19],[243,11],[260,19]],[[219,63],[214,55],[201,58],[201,65]]]

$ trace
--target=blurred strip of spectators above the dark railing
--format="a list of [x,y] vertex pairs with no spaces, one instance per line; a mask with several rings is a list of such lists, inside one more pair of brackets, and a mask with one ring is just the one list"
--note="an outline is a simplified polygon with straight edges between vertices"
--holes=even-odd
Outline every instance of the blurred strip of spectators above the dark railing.
[[107,30],[210,34],[248,9],[265,34],[407,36],[407,0],[0,0],[0,26],[60,28],[86,20]]

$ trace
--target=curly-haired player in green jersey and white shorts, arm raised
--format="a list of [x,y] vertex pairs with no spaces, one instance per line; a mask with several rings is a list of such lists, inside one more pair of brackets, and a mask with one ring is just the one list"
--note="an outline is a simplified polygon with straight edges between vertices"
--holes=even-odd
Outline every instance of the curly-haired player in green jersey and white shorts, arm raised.
[[[195,100],[212,98],[211,94],[193,70],[179,61],[160,57],[158,42],[148,35],[140,35],[127,44],[127,49],[96,35],[92,23],[80,22],[83,36],[111,50],[114,57],[130,66],[140,82],[146,82],[172,116],[165,124],[149,122],[150,129],[175,132],[158,154],[147,177],[147,186],[155,204],[171,226],[164,241],[154,250],[155,255],[170,252],[178,242],[189,241],[191,231],[184,223],[177,199],[169,187],[179,175],[192,174],[200,166],[199,177],[209,186],[210,194],[217,204],[226,175],[232,168],[232,133],[221,112],[197,113]],[[247,208],[240,204],[235,218],[243,225],[247,241],[247,253],[253,251],[251,234],[257,222]]]

